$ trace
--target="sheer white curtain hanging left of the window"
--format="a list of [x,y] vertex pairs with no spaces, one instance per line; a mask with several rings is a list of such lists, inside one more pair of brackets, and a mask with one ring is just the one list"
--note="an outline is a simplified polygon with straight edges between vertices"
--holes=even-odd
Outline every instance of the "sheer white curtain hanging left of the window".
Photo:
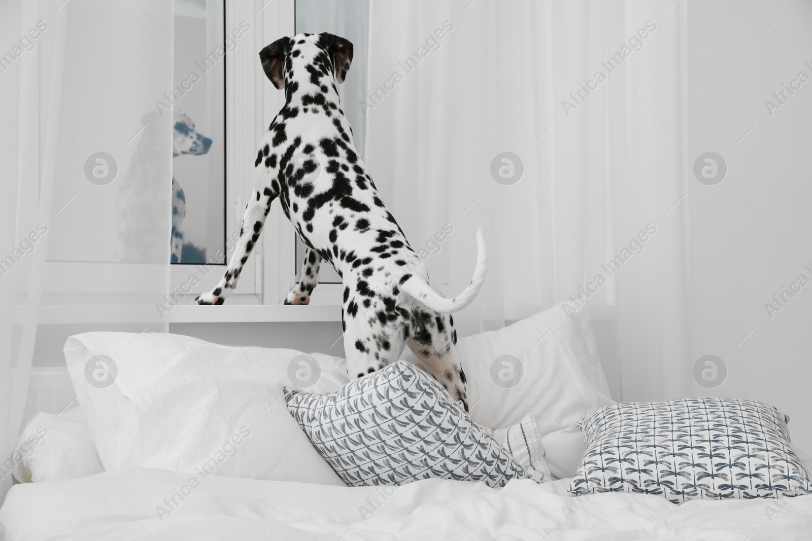
[[160,0],[0,6],[13,45],[0,60],[2,461],[33,406],[32,366],[64,365],[71,334],[166,332],[172,117],[155,101],[173,91],[172,15]]

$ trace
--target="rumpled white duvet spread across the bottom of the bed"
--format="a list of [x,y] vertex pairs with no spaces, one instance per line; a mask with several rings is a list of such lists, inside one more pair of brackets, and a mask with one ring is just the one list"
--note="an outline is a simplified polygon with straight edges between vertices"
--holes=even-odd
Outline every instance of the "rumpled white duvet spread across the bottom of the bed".
[[[812,539],[812,496],[677,506],[659,496],[574,498],[568,480],[382,489],[210,476],[192,488],[189,477],[130,468],[16,485],[0,508],[0,539]],[[181,491],[189,496],[170,509],[164,498]]]

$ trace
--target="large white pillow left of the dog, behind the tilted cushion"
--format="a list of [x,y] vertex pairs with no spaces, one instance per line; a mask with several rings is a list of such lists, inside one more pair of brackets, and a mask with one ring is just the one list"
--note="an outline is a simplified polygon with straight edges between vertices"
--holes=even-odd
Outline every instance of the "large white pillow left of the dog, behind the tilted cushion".
[[[168,333],[84,333],[67,369],[106,470],[163,468],[343,486],[287,413],[283,385],[329,393],[342,359]],[[288,376],[290,374],[290,376]]]

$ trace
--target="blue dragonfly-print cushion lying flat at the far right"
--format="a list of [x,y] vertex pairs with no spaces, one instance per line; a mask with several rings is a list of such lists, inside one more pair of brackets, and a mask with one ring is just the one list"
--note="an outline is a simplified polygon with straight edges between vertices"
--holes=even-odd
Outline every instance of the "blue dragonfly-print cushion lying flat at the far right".
[[604,406],[581,421],[586,453],[569,491],[637,492],[674,503],[812,493],[788,418],[734,398]]

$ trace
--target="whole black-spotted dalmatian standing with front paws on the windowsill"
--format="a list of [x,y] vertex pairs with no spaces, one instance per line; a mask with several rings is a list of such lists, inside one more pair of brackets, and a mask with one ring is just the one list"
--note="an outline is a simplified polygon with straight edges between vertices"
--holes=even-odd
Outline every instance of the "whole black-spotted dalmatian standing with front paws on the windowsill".
[[[477,264],[471,284],[443,298],[428,284],[417,257],[387,210],[352,141],[336,83],[352,62],[352,43],[332,34],[283,37],[262,49],[262,67],[285,105],[260,142],[254,191],[225,276],[199,304],[222,304],[234,288],[260,236],[270,204],[279,198],[308,249],[302,280],[286,304],[307,304],[326,261],[343,282],[344,351],[352,379],[395,363],[404,345],[468,409],[465,374],[456,353],[452,311],[470,303],[486,273],[486,245],[477,231]],[[304,157],[304,159],[302,158]],[[317,178],[314,173],[320,171]],[[419,261],[419,258],[417,258]]]

